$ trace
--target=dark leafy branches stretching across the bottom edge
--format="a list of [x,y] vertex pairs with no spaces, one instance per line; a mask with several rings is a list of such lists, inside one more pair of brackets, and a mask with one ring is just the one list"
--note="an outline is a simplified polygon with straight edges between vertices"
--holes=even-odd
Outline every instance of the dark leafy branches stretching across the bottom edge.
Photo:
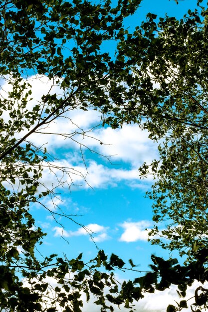
[[[11,257],[13,256],[12,254]],[[27,279],[26,283],[14,276],[14,265],[0,266],[2,311],[55,312],[61,308],[64,312],[81,312],[84,295],[86,302],[92,296],[96,297],[94,304],[101,306],[101,312],[113,312],[115,306],[122,304],[133,312],[135,301],[144,298],[145,293],[153,294],[155,291],[164,291],[171,285],[177,285],[177,292],[182,300],[177,306],[169,305],[167,308],[167,312],[177,312],[188,308],[188,301],[183,297],[186,296],[189,286],[196,280],[202,285],[208,282],[208,270],[205,266],[207,249],[196,253],[197,260],[187,266],[179,265],[177,259],[165,261],[163,258],[152,256],[150,272],[122,284],[116,281],[113,270],[125,270],[125,263],[114,254],[108,259],[101,250],[89,263],[81,260],[82,254],[70,261],[66,258],[56,258],[54,262],[55,256],[51,255],[43,262],[36,262],[35,267],[21,266],[21,273]],[[129,262],[132,263],[132,260]],[[100,268],[105,269],[105,272],[100,271]],[[201,308],[206,307],[208,289],[198,286],[194,298],[191,309],[200,312]]]

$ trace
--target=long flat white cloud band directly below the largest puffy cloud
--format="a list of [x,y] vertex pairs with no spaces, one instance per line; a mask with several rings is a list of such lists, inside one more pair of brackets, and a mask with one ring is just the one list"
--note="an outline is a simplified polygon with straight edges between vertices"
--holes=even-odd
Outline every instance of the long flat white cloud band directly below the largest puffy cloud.
[[[79,162],[79,161],[77,161]],[[39,190],[43,191],[44,185],[52,189],[59,184],[59,187],[73,188],[78,190],[84,188],[107,188],[116,187],[120,182],[128,187],[148,189],[152,185],[152,179],[140,179],[138,168],[112,168],[95,160],[89,159],[84,163],[82,159],[73,164],[71,159],[55,160],[50,162],[50,167],[44,165],[41,185]],[[51,207],[52,208],[52,207]],[[54,209],[54,208],[53,208]]]

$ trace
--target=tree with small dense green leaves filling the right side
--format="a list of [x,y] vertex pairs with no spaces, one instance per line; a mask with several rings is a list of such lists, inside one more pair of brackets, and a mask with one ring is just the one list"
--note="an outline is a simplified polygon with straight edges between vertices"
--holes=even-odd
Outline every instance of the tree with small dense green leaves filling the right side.
[[121,40],[118,59],[132,68],[131,102],[115,111],[121,124],[137,122],[159,143],[159,159],[140,168],[156,180],[148,194],[156,223],[150,235],[162,239],[152,242],[189,259],[208,248],[208,9],[200,2],[181,20],[156,22],[149,13]]

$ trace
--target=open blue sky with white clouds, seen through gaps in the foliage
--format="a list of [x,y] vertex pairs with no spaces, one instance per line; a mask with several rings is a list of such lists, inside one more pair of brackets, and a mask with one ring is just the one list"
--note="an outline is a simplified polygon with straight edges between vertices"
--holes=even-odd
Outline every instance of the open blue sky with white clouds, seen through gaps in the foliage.
[[[125,26],[133,30],[149,11],[162,17],[167,13],[169,16],[182,18],[189,8],[196,7],[196,2],[197,0],[184,0],[177,5],[174,0],[143,0],[137,13],[126,19]],[[32,97],[36,101],[45,93],[46,88],[49,89],[50,83],[46,77],[30,78]],[[55,93],[54,90],[52,93]],[[80,225],[59,216],[55,222],[47,210],[33,205],[31,211],[36,225],[47,233],[39,248],[40,252],[43,255],[62,255],[64,252],[69,259],[83,252],[84,259],[90,260],[96,256],[97,246],[108,255],[117,254],[125,262],[133,259],[141,271],[148,269],[152,253],[168,258],[168,251],[147,241],[145,229],[150,229],[153,222],[152,202],[145,198],[145,192],[151,189],[154,181],[151,177],[140,180],[138,173],[138,168],[144,161],[150,163],[157,158],[157,144],[148,138],[147,132],[141,132],[137,125],[124,125],[122,129],[116,130],[98,126],[90,131],[100,124],[100,116],[96,111],[75,110],[69,112],[67,117],[70,120],[59,119],[47,129],[47,132],[59,135],[35,134],[30,138],[35,145],[45,145],[48,153],[56,157],[55,165],[70,167],[70,178],[76,184],[70,191],[67,184],[57,188],[53,202],[50,198],[45,198],[43,204],[52,211],[59,213],[60,208],[67,215],[74,215],[72,218],[75,222],[94,232],[94,242]],[[85,136],[73,136],[72,139],[76,142],[71,138],[65,140],[61,136],[63,133],[82,133],[76,125],[86,132]],[[61,179],[61,171],[54,171]],[[79,172],[86,177],[86,181]],[[70,178],[63,177],[68,183]],[[44,170],[42,183],[52,187],[57,183],[55,175],[48,169]],[[161,228],[164,226],[162,224]],[[128,278],[136,276],[133,272],[128,273]],[[120,278],[127,277],[120,273]],[[148,309],[144,311],[152,311],[151,308]]]

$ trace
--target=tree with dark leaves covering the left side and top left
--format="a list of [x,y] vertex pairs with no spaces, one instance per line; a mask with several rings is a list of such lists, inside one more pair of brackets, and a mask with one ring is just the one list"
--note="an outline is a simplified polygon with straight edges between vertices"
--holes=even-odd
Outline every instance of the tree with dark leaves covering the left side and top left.
[[[71,169],[58,167],[30,137],[44,135],[53,120],[67,118],[71,110],[105,111],[119,100],[123,92],[119,73],[124,69],[100,46],[119,40],[124,17],[139,3],[119,1],[113,8],[110,1],[0,1],[1,82],[10,86],[8,91],[1,85],[0,97],[0,311],[52,312],[59,305],[64,311],[78,312],[81,291],[87,300],[90,292],[96,295],[105,309],[104,285],[117,292],[113,276],[96,270],[107,259],[102,254],[86,266],[81,255],[70,261],[55,254],[38,259],[35,248],[45,234],[39,227],[35,229],[30,206],[43,205],[42,199],[55,196],[55,187],[64,183],[58,179],[52,188],[41,185],[42,169],[55,167],[63,175],[70,175]],[[40,101],[31,100],[28,75],[43,75],[50,81]],[[54,86],[59,94],[52,93]],[[109,97],[115,89],[118,99]],[[72,138],[74,134],[64,135]],[[54,218],[63,215],[51,213]],[[72,280],[69,272],[77,273]],[[61,288],[52,289],[48,278],[55,279]]]

